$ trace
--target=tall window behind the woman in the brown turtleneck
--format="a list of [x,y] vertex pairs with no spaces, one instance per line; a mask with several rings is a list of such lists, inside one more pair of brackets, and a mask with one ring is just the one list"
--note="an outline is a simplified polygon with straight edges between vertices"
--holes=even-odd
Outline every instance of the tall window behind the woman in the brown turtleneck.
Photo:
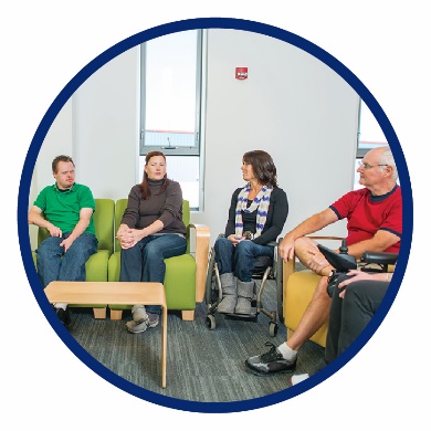
[[141,44],[139,181],[145,155],[167,157],[169,178],[198,210],[202,147],[203,30],[168,34]]

